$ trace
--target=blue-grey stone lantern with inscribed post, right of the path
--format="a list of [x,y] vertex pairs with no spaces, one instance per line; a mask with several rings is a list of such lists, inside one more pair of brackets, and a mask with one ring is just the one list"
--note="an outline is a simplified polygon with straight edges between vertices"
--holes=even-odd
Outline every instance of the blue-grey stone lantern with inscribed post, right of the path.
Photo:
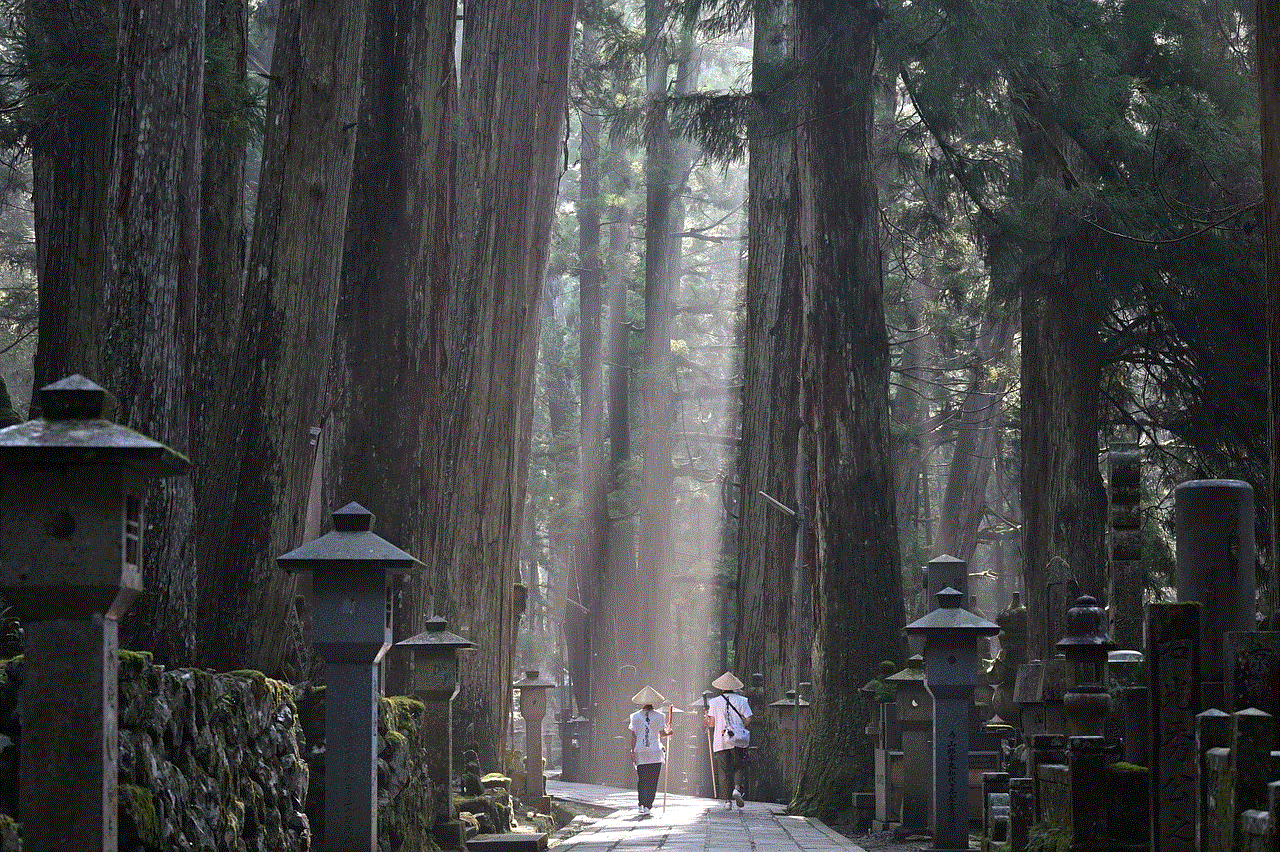
[[978,682],[978,637],[1000,627],[960,606],[947,587],[938,608],[908,624],[924,637],[924,686],[933,696],[933,852],[969,849],[969,725]]

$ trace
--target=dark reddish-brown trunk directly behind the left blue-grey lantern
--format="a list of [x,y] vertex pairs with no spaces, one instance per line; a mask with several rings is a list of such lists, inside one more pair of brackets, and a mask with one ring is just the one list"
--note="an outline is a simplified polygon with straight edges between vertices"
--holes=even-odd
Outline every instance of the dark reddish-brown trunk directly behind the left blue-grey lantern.
[[[389,0],[369,9],[360,123],[334,326],[324,509],[356,500],[376,532],[426,551],[425,472],[443,422],[453,168],[452,0]],[[393,578],[392,638],[426,628],[429,576]],[[390,651],[389,693],[408,690],[408,658]]]

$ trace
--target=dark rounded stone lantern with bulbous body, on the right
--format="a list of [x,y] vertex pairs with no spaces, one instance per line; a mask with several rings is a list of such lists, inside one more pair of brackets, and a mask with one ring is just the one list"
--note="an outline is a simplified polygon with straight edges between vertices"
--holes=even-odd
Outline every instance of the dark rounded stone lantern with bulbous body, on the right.
[[1111,701],[1107,691],[1107,619],[1097,599],[1080,595],[1066,610],[1066,636],[1057,642],[1066,658],[1066,733],[1071,737],[1101,737]]

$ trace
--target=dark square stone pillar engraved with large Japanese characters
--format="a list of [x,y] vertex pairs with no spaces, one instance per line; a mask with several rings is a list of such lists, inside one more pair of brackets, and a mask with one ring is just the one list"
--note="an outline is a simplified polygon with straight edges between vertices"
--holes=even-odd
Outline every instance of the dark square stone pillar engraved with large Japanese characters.
[[1201,605],[1147,604],[1152,852],[1196,848]]

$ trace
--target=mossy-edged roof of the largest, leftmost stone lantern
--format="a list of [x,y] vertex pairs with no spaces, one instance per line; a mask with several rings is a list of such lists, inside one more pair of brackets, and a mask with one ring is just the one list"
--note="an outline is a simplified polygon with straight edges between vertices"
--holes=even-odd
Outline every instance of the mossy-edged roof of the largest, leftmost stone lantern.
[[81,375],[41,388],[44,417],[0,429],[0,463],[123,464],[143,476],[173,476],[191,467],[182,453],[106,420],[109,397]]

